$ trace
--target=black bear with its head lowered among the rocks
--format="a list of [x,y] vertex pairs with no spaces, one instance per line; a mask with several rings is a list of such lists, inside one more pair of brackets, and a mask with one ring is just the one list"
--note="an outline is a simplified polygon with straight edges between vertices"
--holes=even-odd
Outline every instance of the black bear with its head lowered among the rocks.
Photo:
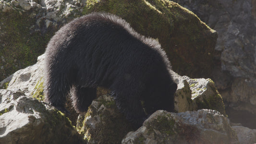
[[74,108],[85,112],[97,86],[112,91],[136,126],[158,109],[174,110],[177,84],[165,52],[118,16],[95,12],[74,19],[51,38],[45,53],[46,101],[61,111],[72,91]]

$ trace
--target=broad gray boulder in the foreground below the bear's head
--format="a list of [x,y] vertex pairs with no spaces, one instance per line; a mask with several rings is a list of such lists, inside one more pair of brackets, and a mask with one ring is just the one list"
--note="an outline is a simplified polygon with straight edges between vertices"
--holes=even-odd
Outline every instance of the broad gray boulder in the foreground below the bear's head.
[[158,110],[122,144],[239,144],[229,120],[215,110],[181,113]]

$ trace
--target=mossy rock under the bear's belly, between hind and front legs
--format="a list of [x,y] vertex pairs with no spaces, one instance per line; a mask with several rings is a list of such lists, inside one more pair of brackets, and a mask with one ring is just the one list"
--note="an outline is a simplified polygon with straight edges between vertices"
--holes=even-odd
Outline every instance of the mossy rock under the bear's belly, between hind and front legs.
[[120,144],[132,125],[116,107],[110,95],[95,99],[87,113],[80,115],[77,130],[89,144]]

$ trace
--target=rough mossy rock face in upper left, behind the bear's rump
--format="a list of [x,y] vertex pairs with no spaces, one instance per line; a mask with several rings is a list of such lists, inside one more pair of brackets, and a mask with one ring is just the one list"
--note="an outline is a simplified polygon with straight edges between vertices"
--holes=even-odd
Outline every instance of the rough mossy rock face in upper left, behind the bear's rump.
[[32,65],[61,25],[81,14],[85,0],[0,0],[0,81]]

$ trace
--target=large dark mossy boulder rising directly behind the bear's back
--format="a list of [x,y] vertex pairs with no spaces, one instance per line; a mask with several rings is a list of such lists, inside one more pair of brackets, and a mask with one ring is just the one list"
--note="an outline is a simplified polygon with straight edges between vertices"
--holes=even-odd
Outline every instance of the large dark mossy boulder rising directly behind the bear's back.
[[180,75],[209,76],[217,33],[179,4],[170,0],[87,0],[83,14],[90,12],[116,14],[138,33],[158,39]]

